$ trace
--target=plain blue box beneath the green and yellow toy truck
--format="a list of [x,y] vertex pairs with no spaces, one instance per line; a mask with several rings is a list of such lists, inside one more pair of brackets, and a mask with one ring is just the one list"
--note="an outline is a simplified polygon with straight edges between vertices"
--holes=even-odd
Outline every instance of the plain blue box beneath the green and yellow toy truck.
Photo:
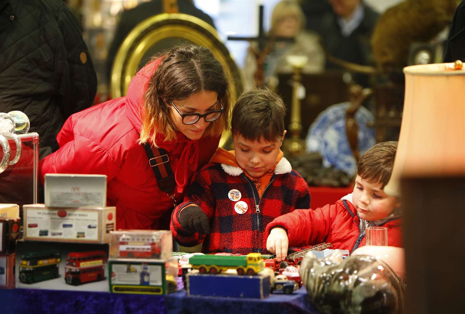
[[187,294],[263,299],[270,295],[269,275],[213,275],[188,273]]

